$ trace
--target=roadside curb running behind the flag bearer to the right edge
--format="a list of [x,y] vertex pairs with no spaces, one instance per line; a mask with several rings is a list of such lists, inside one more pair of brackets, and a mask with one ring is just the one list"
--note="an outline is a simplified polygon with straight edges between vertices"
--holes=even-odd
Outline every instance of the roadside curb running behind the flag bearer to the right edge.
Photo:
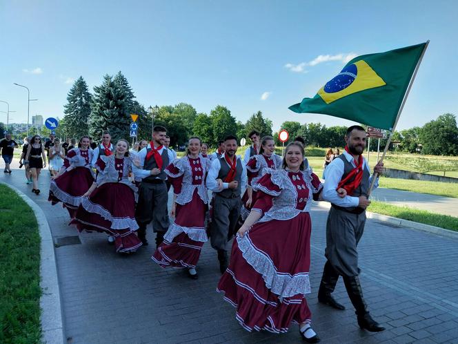
[[[317,207],[330,209],[331,205],[329,202],[316,202]],[[396,227],[408,227],[417,231],[424,231],[426,233],[436,234],[438,236],[444,236],[446,238],[458,239],[458,231],[450,231],[450,229],[444,229],[441,227],[430,226],[430,224],[424,224],[419,222],[413,222],[410,220],[404,220],[402,218],[394,218],[388,215],[382,215],[379,213],[372,213],[366,211],[366,217],[372,218],[377,221],[386,222]]]

